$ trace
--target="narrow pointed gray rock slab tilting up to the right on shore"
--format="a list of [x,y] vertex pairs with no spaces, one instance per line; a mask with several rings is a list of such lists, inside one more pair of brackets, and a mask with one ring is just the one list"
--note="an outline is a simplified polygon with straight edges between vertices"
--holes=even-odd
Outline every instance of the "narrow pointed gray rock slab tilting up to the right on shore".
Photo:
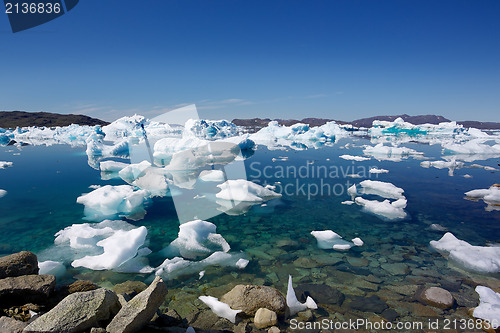
[[140,294],[131,299],[106,327],[110,333],[130,333],[139,331],[156,313],[165,301],[167,286],[157,276]]

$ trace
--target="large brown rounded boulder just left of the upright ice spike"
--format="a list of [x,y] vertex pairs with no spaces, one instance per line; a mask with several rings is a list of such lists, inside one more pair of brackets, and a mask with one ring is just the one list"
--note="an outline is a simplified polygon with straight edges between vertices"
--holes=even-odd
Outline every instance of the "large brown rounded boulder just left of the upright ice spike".
[[277,289],[267,286],[239,284],[222,296],[221,302],[250,316],[255,315],[260,308],[272,310],[277,314],[284,314],[286,308],[283,295]]

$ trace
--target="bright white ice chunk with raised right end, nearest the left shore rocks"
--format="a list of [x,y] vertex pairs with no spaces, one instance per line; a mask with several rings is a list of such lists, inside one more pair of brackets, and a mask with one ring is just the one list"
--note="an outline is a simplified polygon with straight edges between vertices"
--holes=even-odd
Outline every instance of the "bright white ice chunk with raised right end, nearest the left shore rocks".
[[94,270],[118,268],[137,255],[137,251],[146,241],[147,233],[144,226],[129,231],[118,230],[112,236],[96,243],[104,249],[104,253],[77,259],[71,266]]

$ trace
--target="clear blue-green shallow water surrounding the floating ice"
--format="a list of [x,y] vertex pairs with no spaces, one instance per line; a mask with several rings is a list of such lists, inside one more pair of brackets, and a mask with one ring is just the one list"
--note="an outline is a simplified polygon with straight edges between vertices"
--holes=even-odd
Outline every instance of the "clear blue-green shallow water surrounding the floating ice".
[[[317,315],[320,317],[373,319],[380,314],[358,311],[349,304],[356,296],[377,295],[398,312],[398,320],[434,315],[467,318],[466,307],[475,306],[474,302],[477,305],[475,284],[484,282],[498,287],[499,275],[470,273],[448,262],[429,247],[429,241],[444,234],[430,229],[430,225],[440,224],[473,245],[499,242],[500,211],[487,212],[483,202],[464,200],[464,192],[499,183],[499,173],[463,168],[450,177],[447,169],[422,168],[421,160],[412,158],[401,162],[346,161],[338,156],[362,155],[359,146],[369,144],[367,140],[355,139],[355,147],[344,149],[348,142],[351,140],[343,139],[333,147],[300,151],[259,147],[245,161],[247,177],[262,185],[276,185],[283,197],[254,206],[240,216],[222,214],[209,219],[229,242],[231,251],[244,251],[250,264],[244,270],[208,267],[202,280],[195,274],[168,281],[170,306],[177,307],[181,316],[186,315],[199,306],[199,295],[220,297],[240,283],[272,285],[285,293],[291,274],[296,285],[324,283],[346,295],[342,306],[325,306],[326,313]],[[438,159],[441,155],[440,147],[406,146],[424,152],[428,158]],[[285,156],[287,160],[272,160]],[[0,170],[0,188],[8,192],[0,199],[0,255],[21,250],[43,254],[53,247],[57,231],[87,222],[76,198],[90,192],[90,185],[123,183],[101,180],[100,172],[87,164],[85,147],[0,147],[0,161],[14,162],[13,167]],[[476,163],[496,167],[500,161]],[[370,167],[390,172],[370,175]],[[364,177],[344,176],[352,173]],[[472,178],[464,178],[465,174]],[[355,204],[341,204],[350,200],[347,188],[363,179],[386,181],[403,188],[409,217],[388,221],[363,212]],[[159,251],[177,237],[179,230],[172,199],[154,198],[143,220],[129,222],[148,228],[148,246],[153,251],[148,258],[151,266],[158,266],[165,259]],[[360,237],[364,245],[345,252],[319,249],[310,232],[326,229],[347,240]],[[74,278],[109,286],[124,280],[148,281],[151,276],[69,268],[59,282]],[[416,288],[423,285],[447,288],[457,298],[464,298],[459,303],[463,306],[426,312],[413,302]]]

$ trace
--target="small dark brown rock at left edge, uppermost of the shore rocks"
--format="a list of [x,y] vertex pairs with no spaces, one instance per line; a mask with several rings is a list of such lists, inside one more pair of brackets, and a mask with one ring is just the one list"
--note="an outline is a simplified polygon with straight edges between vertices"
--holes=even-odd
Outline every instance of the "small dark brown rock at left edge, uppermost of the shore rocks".
[[34,253],[22,251],[0,258],[0,279],[38,274],[38,260]]

